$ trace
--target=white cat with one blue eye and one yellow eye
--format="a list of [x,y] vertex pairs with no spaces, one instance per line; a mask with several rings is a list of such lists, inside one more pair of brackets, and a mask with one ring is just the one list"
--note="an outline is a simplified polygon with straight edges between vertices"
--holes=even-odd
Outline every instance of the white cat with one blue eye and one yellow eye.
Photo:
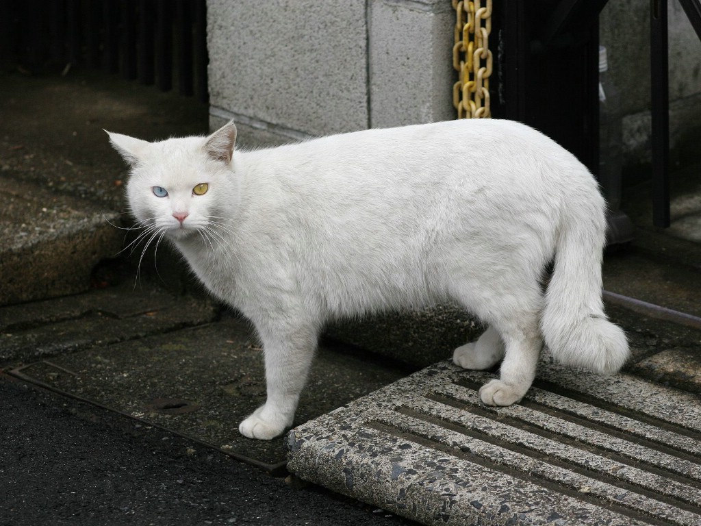
[[247,437],[292,425],[331,318],[458,302],[489,329],[454,362],[503,359],[479,391],[489,405],[526,394],[543,340],[559,362],[597,372],[627,359],[601,302],[597,183],[523,124],[459,120],[259,151],[234,149],[233,122],[210,137],[109,138],[131,166],[128,201],[149,241],[172,241],[257,329],[268,396],[240,424]]

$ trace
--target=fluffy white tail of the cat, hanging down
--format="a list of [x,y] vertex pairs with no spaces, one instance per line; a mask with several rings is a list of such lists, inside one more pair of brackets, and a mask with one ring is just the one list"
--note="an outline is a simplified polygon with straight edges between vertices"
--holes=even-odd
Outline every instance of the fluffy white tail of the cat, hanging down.
[[[564,220],[540,329],[559,363],[617,372],[629,356],[625,333],[604,314],[601,257],[606,236],[603,206]],[[584,217],[583,217],[584,216]]]

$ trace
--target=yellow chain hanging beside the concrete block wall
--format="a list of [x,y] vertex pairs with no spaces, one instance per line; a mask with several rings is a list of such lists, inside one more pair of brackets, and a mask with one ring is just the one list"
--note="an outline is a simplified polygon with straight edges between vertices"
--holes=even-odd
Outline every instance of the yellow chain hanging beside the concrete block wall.
[[452,2],[456,11],[453,67],[459,72],[458,81],[453,86],[453,105],[458,110],[458,119],[490,117],[491,0]]

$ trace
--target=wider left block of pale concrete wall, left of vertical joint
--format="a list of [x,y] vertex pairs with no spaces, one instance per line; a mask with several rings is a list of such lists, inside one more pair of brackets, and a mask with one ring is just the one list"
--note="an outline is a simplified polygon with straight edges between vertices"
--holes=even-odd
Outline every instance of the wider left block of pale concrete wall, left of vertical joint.
[[365,2],[207,1],[213,107],[310,135],[367,128]]

